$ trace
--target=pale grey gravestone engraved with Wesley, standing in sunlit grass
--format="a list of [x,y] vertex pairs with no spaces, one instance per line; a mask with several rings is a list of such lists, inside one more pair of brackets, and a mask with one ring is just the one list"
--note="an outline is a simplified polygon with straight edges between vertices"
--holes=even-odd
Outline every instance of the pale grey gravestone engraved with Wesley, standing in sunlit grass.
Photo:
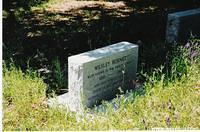
[[68,58],[67,94],[58,97],[71,111],[83,111],[134,88],[138,46],[120,42]]

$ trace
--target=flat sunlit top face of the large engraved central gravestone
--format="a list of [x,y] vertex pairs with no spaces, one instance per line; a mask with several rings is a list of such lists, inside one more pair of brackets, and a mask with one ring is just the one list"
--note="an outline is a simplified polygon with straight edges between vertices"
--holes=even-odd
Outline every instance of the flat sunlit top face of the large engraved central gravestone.
[[123,52],[135,47],[138,46],[124,41],[103,48],[99,48],[96,50],[70,56],[68,57],[68,61],[70,61],[70,63],[82,64],[89,61],[94,61],[96,59],[104,58],[115,53]]

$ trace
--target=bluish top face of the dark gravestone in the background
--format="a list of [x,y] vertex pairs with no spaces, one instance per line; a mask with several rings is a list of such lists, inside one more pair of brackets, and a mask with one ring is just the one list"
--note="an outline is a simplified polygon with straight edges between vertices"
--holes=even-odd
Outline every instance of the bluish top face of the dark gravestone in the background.
[[184,16],[196,15],[196,14],[200,14],[200,8],[187,10],[187,11],[175,12],[175,13],[171,13],[169,15],[170,16],[175,16],[175,17],[184,17]]

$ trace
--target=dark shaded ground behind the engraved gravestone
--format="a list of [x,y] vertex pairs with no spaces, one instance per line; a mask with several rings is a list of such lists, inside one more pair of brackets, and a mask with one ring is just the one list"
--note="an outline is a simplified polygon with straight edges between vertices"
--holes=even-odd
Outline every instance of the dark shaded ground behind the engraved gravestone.
[[148,70],[165,62],[169,48],[165,44],[167,14],[199,5],[196,1],[179,4],[141,0],[22,11],[15,20],[3,19],[3,58],[13,58],[23,69],[28,63],[41,71],[52,88],[58,87],[52,65],[55,58],[67,76],[68,56],[129,41],[139,45],[139,69]]

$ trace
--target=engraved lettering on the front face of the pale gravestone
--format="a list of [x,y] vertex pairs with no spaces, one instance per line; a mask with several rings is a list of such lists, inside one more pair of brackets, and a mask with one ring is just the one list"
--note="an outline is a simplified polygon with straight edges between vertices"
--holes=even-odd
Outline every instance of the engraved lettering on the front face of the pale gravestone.
[[92,89],[87,91],[91,95],[88,100],[101,98],[103,93],[123,87],[124,80],[127,79],[126,67],[133,63],[131,57],[131,54],[123,55],[94,65],[87,75],[88,81],[93,82],[90,84]]

